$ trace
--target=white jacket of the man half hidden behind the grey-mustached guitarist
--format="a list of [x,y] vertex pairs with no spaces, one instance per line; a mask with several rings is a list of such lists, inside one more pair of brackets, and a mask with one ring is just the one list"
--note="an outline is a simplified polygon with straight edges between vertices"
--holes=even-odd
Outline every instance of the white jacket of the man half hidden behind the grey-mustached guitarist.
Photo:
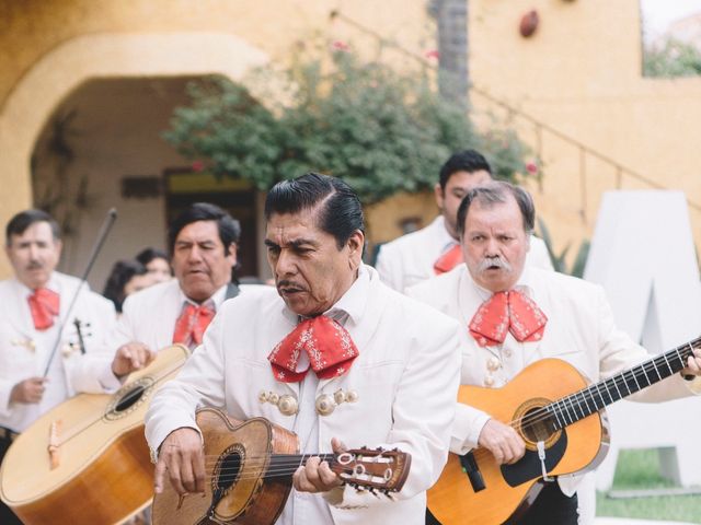
[[[380,247],[377,271],[382,281],[398,292],[436,276],[434,264],[447,250],[458,244],[446,229],[443,215],[438,215],[426,228],[403,235]],[[526,265],[552,270],[545,243],[530,236],[530,249]]]

